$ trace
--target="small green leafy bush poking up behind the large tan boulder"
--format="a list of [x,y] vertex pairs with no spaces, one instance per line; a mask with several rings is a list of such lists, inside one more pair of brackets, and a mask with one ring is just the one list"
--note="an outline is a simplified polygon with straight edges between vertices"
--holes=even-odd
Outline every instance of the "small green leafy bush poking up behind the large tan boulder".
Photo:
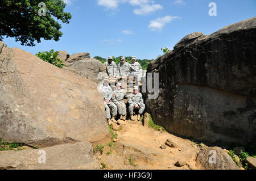
[[57,58],[58,53],[58,51],[54,52],[54,50],[51,49],[49,52],[38,52],[36,53],[36,56],[45,62],[49,62],[50,64],[57,66],[58,68],[63,68],[63,65],[61,65],[63,61]]

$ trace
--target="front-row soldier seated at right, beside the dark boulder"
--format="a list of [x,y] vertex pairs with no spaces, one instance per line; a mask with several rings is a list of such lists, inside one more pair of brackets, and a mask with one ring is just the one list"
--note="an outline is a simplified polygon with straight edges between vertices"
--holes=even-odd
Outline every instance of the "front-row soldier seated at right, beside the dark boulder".
[[142,115],[143,111],[146,108],[146,106],[144,104],[143,96],[138,91],[139,91],[139,87],[134,86],[133,94],[130,94],[129,98],[128,98],[129,112],[130,112],[130,115],[131,115],[131,120],[133,120],[133,121],[136,119],[136,117],[133,115],[134,109],[139,110],[139,113],[137,115],[137,119],[138,119],[138,121],[140,121],[141,120],[141,115]]

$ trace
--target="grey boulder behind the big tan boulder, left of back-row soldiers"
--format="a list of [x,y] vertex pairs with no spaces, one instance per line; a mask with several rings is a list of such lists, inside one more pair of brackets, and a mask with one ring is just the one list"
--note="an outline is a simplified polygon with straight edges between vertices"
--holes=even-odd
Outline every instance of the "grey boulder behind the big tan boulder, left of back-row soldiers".
[[75,61],[71,65],[64,66],[63,68],[80,74],[96,83],[99,83],[102,78],[108,76],[104,64],[95,58],[85,58]]

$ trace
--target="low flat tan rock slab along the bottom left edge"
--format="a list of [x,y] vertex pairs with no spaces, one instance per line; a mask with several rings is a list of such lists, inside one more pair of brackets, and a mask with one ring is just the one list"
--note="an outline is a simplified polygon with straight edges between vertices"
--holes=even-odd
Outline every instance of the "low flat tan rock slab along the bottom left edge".
[[85,141],[55,145],[44,149],[0,151],[1,169],[95,170],[100,169],[100,163],[93,158],[92,144]]

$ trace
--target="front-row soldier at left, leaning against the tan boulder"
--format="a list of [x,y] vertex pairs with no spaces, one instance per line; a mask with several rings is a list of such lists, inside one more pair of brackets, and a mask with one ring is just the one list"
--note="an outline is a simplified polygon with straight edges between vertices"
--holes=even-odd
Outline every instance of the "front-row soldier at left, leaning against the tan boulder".
[[[111,124],[111,121],[117,123],[115,116],[117,116],[117,106],[112,102],[113,90],[109,86],[109,78],[104,78],[104,84],[98,87],[104,96],[104,106],[106,111],[106,118],[108,119],[108,124]],[[110,109],[112,110],[112,119],[110,120]]]

